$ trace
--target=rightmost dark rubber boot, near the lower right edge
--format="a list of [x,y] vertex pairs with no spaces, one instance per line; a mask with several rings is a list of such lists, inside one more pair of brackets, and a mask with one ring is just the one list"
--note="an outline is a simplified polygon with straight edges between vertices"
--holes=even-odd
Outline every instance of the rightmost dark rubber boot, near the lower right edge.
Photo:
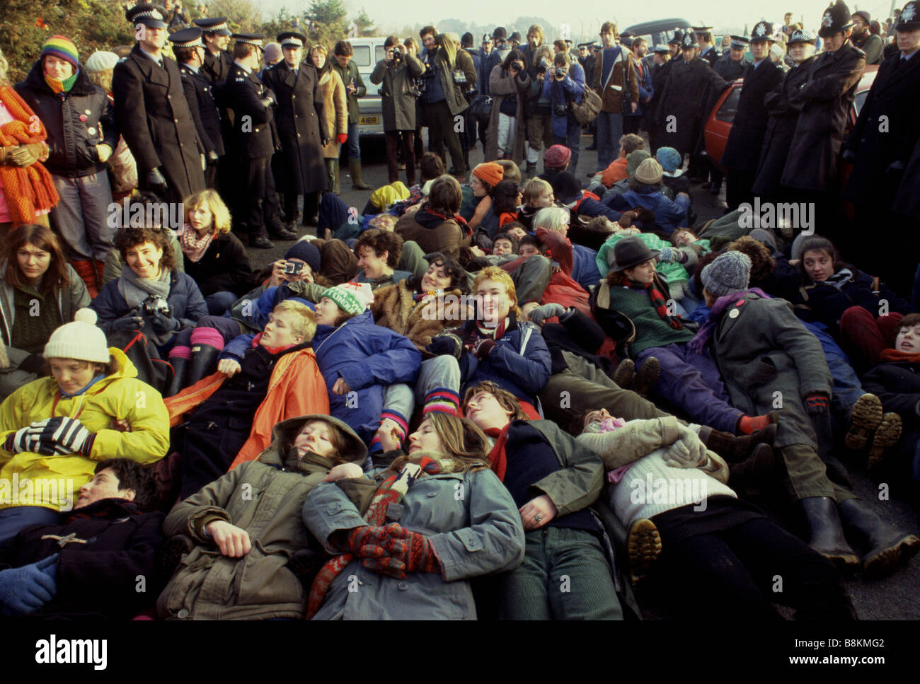
[[867,577],[889,575],[898,564],[906,564],[920,551],[920,539],[895,530],[859,499],[847,499],[837,509],[844,530],[864,552],[861,562]]

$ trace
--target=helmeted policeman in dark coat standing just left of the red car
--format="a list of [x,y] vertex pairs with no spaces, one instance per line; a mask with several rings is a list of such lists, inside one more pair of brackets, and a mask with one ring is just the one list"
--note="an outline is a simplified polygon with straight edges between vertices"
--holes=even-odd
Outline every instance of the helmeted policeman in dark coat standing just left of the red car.
[[698,154],[703,144],[703,127],[716,100],[730,84],[696,56],[698,47],[695,35],[684,33],[681,57],[672,60],[655,112],[656,144],[689,154],[688,173],[696,172],[697,180],[705,180],[707,166]]

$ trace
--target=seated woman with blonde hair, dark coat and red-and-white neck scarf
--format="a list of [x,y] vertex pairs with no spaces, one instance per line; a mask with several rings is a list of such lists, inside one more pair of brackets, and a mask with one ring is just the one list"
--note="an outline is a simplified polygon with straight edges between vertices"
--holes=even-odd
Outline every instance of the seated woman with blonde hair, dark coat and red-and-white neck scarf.
[[213,189],[185,199],[185,224],[178,231],[185,272],[208,303],[208,314],[221,315],[259,284],[246,247],[230,232],[230,211]]

